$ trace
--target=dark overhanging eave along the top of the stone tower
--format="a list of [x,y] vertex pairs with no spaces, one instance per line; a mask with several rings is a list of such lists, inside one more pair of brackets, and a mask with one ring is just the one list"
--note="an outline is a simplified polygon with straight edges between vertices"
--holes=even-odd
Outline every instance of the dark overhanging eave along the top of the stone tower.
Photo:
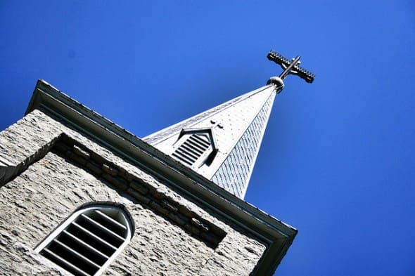
[[121,126],[58,91],[37,81],[26,114],[40,110],[107,147],[115,154],[153,173],[267,244],[253,275],[273,275],[293,242],[297,230],[239,199],[195,171],[143,142]]

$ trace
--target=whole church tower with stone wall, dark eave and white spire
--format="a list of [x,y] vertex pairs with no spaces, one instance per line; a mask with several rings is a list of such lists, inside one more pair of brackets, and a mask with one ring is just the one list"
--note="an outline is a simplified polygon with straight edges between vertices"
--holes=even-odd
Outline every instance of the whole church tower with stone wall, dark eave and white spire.
[[279,84],[140,139],[38,81],[0,133],[0,275],[272,275],[297,230],[243,197]]

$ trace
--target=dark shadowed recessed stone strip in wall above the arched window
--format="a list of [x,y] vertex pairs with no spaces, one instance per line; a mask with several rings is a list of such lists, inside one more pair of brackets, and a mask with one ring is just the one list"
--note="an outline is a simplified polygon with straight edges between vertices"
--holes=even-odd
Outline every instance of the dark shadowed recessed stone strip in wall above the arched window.
[[62,135],[53,146],[52,152],[88,171],[96,178],[105,180],[115,188],[126,192],[146,208],[179,225],[209,247],[216,248],[226,236],[226,232],[221,228],[68,136]]

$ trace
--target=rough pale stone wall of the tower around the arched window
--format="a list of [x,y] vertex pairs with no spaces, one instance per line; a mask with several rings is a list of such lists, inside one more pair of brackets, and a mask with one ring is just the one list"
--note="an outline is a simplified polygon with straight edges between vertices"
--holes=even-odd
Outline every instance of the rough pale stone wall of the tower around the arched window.
[[[50,152],[63,134],[79,150],[100,157],[148,190],[117,187],[110,178],[82,169],[62,146]],[[98,168],[110,169],[103,164]],[[79,206],[90,202],[123,204],[134,219],[131,242],[104,275],[249,275],[265,249],[206,206],[191,202],[37,110],[0,133],[0,184],[1,177],[12,175],[17,176],[0,188],[0,275],[69,275],[33,249]],[[143,196],[151,201],[139,200]],[[169,207],[160,202],[170,203],[187,221],[175,221],[169,216],[172,209],[163,213]],[[196,218],[193,223],[192,218]],[[203,230],[205,225],[210,231],[203,237],[196,228]]]

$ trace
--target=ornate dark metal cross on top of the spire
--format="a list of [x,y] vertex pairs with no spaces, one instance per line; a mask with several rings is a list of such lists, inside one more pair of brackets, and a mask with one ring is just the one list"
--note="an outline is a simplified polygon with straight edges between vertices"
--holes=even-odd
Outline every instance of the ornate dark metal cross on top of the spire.
[[305,70],[304,68],[300,67],[300,55],[297,55],[296,58],[293,60],[288,60],[284,58],[283,55],[276,53],[274,51],[269,51],[267,58],[269,60],[274,61],[274,63],[281,65],[283,68],[283,72],[279,75],[281,79],[285,79],[288,74],[296,74],[301,79],[305,79],[308,83],[312,83],[314,81],[314,74]]

